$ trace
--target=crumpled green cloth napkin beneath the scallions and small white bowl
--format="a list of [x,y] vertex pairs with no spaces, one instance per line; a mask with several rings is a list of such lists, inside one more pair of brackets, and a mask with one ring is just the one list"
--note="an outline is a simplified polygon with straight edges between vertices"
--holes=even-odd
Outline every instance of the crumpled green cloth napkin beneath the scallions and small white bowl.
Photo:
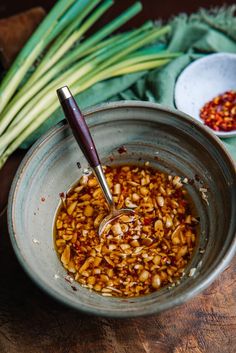
[[[201,9],[190,16],[180,14],[173,18],[169,23],[172,27],[169,38],[164,45],[158,46],[183,52],[182,56],[161,69],[100,82],[76,96],[79,106],[84,109],[105,101],[133,99],[175,107],[175,82],[188,64],[210,53],[236,53],[235,10],[235,5],[213,10]],[[62,119],[63,113],[58,109],[21,147],[28,148],[49,127]],[[236,138],[224,139],[223,142],[236,160]]]

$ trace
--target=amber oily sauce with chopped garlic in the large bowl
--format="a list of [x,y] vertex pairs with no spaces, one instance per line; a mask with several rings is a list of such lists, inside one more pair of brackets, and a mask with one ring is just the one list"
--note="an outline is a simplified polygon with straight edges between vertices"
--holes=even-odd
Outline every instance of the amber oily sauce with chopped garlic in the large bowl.
[[114,220],[99,237],[108,206],[95,177],[82,176],[62,197],[56,216],[63,266],[81,285],[108,297],[173,285],[191,258],[198,223],[181,178],[149,166],[104,167],[104,172],[116,207],[132,208],[135,215]]

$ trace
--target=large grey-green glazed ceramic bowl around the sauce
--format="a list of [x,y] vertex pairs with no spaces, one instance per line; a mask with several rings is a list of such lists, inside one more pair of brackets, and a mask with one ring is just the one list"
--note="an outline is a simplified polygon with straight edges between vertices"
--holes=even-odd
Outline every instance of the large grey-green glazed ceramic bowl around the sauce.
[[[88,313],[132,317],[185,302],[206,288],[235,252],[232,160],[222,143],[200,123],[156,104],[104,104],[88,111],[86,117],[104,163],[148,160],[163,171],[194,181],[187,188],[200,217],[200,237],[192,262],[179,285],[139,298],[102,297],[68,282],[54,248],[53,222],[59,193],[80,178],[87,163],[67,125],[60,123],[30,149],[12,185],[9,231],[21,265],[47,293]],[[117,149],[122,145],[127,152],[119,154]],[[207,202],[200,188],[207,189]],[[190,273],[191,268],[195,273]]]

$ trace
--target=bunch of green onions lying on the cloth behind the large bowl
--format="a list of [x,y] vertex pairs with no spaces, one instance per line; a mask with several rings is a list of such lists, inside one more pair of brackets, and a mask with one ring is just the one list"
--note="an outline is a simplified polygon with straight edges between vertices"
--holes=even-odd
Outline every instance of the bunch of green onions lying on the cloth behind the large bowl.
[[147,22],[112,35],[141,10],[139,2],[87,36],[112,4],[113,0],[59,0],[26,43],[0,85],[0,168],[59,107],[58,87],[70,85],[78,94],[102,80],[161,67],[181,55],[160,51],[160,46],[146,47],[168,34],[169,26],[157,28]]

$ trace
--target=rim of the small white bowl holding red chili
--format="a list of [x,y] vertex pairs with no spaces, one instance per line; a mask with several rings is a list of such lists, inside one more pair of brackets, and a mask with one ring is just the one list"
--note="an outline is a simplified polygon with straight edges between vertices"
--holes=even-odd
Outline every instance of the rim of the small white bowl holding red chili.
[[[224,58],[224,59],[228,58],[230,60],[233,59],[236,61],[236,53],[227,53],[227,52],[213,53],[213,54],[209,54],[207,56],[201,57],[199,59],[194,60],[190,64],[188,64],[184,68],[184,70],[180,73],[180,75],[178,76],[176,83],[175,83],[175,88],[174,88],[174,102],[175,102],[176,108],[180,109],[181,112],[183,112],[181,110],[183,108],[183,104],[182,104],[182,100],[180,98],[180,95],[178,94],[181,80],[185,77],[186,74],[189,73],[189,71],[191,71],[193,68],[197,67],[199,64],[201,65],[203,62],[211,62],[215,58],[217,58],[217,60],[220,60],[221,58]],[[212,97],[212,98],[214,98],[214,97]],[[184,113],[184,114],[186,114],[186,113]],[[194,120],[200,121],[204,127],[207,127],[210,131],[212,131],[215,135],[217,135],[220,138],[230,138],[230,137],[236,136],[236,130],[233,130],[233,131],[214,131],[213,129],[211,129],[210,127],[208,127],[207,125],[204,124],[204,122],[202,121],[200,116],[199,117],[196,117],[193,115],[189,115],[189,116],[191,116],[192,119],[194,119]]]

